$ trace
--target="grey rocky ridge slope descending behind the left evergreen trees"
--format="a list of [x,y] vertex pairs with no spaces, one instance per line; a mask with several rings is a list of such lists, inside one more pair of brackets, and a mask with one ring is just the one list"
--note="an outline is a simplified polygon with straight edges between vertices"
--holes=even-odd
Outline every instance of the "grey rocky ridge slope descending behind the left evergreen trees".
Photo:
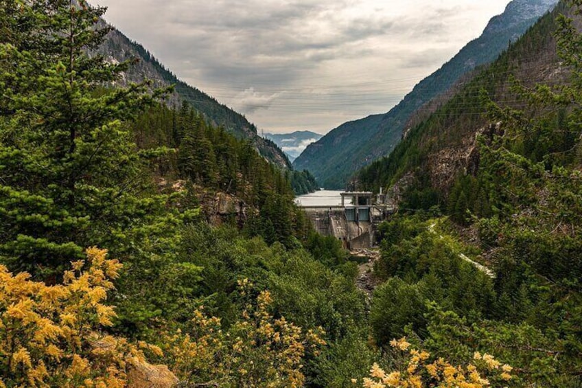
[[182,102],[187,102],[196,111],[202,113],[212,126],[222,126],[236,137],[248,139],[266,159],[281,168],[290,168],[290,162],[286,155],[272,141],[257,135],[257,128],[254,124],[248,122],[246,117],[233,111],[228,106],[220,104],[220,102],[195,87],[178,80],[148,50],[139,43],[130,41],[119,30],[113,30],[108,34],[99,52],[109,60],[119,62],[132,58],[139,60],[136,65],[130,67],[130,70],[124,73],[121,83],[140,82],[144,79],[150,79],[154,81],[156,87],[174,84],[175,93],[170,97],[171,103],[179,106]]

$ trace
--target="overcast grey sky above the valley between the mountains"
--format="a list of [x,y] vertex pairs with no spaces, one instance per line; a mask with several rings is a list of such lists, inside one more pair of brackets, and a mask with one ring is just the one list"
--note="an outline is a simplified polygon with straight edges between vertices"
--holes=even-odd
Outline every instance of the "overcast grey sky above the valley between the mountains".
[[386,113],[509,0],[95,0],[178,78],[265,132]]

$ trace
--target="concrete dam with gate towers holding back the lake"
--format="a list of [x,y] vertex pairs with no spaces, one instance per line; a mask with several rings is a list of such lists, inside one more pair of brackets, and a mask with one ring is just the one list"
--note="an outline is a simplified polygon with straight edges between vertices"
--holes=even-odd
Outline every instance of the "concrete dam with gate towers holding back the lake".
[[[371,192],[341,192],[337,205],[298,203],[323,236],[334,236],[345,249],[358,251],[375,245],[377,225],[391,214],[386,205],[373,204]],[[382,194],[376,203],[383,203]]]

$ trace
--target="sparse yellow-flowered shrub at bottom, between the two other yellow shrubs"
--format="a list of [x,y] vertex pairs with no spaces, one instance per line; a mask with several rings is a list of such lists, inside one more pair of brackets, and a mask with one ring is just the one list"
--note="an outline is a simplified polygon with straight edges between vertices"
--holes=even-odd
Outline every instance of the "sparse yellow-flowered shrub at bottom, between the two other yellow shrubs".
[[[250,284],[242,281],[240,286],[241,295],[245,295]],[[165,341],[167,365],[188,383],[302,387],[302,359],[308,351],[317,354],[325,341],[321,332],[303,332],[285,318],[273,317],[271,304],[270,293],[260,293],[227,330],[223,330],[220,319],[207,317],[203,307],[199,308],[189,333],[176,332]]]

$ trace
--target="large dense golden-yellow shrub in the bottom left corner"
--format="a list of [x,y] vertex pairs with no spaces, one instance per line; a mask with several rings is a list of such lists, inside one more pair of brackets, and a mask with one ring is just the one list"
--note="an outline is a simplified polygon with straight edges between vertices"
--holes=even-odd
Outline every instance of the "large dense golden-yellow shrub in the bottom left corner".
[[0,387],[124,387],[132,359],[161,355],[100,333],[115,317],[104,301],[121,264],[102,249],[86,257],[55,286],[0,265]]

